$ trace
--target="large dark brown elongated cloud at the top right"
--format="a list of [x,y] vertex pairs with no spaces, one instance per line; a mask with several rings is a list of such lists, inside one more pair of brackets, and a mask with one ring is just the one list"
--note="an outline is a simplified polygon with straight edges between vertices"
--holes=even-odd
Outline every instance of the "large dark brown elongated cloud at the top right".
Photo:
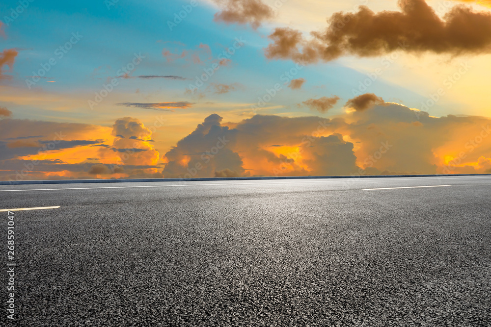
[[398,49],[451,55],[491,50],[488,11],[457,5],[441,19],[424,0],[400,0],[399,6],[401,11],[375,13],[360,6],[355,13],[335,13],[327,20],[327,28],[311,32],[310,39],[298,30],[276,28],[265,54],[270,59],[312,64],[343,55],[380,56]]

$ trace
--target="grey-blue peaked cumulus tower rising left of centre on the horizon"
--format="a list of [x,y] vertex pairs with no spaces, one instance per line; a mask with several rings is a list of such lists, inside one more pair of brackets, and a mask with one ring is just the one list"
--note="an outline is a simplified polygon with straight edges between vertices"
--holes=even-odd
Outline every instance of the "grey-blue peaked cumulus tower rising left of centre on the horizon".
[[217,114],[210,115],[165,153],[164,176],[213,177],[218,172],[223,174],[226,169],[243,175],[243,162],[234,151],[237,131],[222,126],[221,121]]

